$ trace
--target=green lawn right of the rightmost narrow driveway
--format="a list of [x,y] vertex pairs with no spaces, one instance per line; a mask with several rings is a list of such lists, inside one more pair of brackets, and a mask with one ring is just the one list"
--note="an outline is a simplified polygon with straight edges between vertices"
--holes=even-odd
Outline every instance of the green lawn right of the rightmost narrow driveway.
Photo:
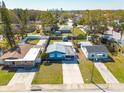
[[124,83],[124,56],[112,56],[113,62],[104,63],[120,83]]

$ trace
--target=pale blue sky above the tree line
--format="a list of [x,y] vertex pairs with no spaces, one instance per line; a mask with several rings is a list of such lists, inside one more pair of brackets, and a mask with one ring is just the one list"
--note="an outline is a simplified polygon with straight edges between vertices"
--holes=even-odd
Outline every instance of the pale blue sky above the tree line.
[[3,0],[9,9],[124,9],[124,0]]

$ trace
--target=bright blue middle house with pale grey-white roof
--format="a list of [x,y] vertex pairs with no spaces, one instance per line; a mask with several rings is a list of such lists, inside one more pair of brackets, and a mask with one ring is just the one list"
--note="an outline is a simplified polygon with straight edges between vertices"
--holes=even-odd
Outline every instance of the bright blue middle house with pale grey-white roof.
[[48,53],[48,60],[74,60],[76,53],[72,46],[61,44],[51,44],[48,46],[46,53]]

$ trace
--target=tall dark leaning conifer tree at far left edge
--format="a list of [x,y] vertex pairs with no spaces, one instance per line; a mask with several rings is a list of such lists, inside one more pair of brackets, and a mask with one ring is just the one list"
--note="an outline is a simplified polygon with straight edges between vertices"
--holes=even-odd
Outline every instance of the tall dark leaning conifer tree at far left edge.
[[15,40],[14,40],[14,34],[11,29],[11,20],[9,16],[9,10],[6,8],[4,1],[2,1],[1,6],[1,19],[3,24],[3,36],[6,38],[9,45],[12,47],[15,47]]

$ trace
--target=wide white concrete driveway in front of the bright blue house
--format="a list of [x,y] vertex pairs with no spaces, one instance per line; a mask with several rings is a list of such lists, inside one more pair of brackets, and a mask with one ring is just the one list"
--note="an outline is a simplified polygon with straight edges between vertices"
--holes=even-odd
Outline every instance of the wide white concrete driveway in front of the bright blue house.
[[83,78],[77,62],[63,61],[63,83],[64,84],[83,84]]

